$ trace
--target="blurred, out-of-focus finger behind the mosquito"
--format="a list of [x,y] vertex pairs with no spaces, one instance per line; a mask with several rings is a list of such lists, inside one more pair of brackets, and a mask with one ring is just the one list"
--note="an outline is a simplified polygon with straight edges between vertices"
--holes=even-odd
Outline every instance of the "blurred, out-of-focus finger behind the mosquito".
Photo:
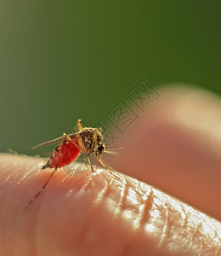
[[125,150],[108,162],[221,219],[220,99],[180,86],[159,94],[123,134]]

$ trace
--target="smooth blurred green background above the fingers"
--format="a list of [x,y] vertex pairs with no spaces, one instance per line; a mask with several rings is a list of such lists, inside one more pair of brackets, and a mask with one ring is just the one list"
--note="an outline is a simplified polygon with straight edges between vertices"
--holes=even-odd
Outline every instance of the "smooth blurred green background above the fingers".
[[92,125],[141,77],[221,93],[220,1],[0,0],[0,151]]

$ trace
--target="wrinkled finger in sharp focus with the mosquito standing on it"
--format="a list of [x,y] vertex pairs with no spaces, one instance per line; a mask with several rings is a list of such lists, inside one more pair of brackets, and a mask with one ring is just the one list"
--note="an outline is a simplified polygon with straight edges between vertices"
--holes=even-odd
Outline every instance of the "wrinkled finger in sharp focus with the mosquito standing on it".
[[[51,170],[0,156],[1,255],[218,255],[221,224],[131,177],[67,166],[28,212]],[[89,170],[89,168],[88,168]],[[12,246],[13,245],[13,246]],[[175,253],[175,254],[174,254]]]

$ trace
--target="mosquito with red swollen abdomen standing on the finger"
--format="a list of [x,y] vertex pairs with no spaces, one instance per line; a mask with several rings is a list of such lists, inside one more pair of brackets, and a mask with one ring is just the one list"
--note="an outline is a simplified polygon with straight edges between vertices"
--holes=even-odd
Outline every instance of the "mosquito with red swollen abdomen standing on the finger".
[[71,162],[77,160],[79,154],[87,155],[88,164],[91,167],[92,172],[94,172],[94,168],[89,157],[90,154],[94,153],[95,158],[100,162],[100,164],[104,166],[113,177],[120,179],[120,177],[117,177],[113,172],[111,172],[108,166],[106,166],[104,160],[101,159],[101,154],[105,151],[105,139],[101,133],[101,128],[83,127],[81,119],[78,119],[77,121],[77,128],[78,132],[71,133],[69,135],[64,132],[62,137],[58,137],[52,141],[33,147],[40,148],[59,142],[59,146],[54,149],[54,152],[49,157],[47,164],[42,166],[42,169],[54,168],[54,171],[48,177],[48,180],[44,183],[42,189],[37,192],[31,201],[28,201],[25,210],[27,210],[31,203],[41,195],[57,169],[63,166],[68,166]]

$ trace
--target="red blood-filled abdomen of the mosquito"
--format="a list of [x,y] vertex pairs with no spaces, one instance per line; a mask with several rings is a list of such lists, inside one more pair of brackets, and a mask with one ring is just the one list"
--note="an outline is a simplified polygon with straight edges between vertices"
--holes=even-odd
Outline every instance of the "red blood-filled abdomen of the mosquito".
[[65,140],[61,145],[54,149],[54,153],[51,155],[48,163],[42,167],[45,168],[54,168],[62,167],[71,164],[72,161],[77,160],[78,155],[80,154],[80,149],[77,148],[77,145],[71,143],[70,140]]

